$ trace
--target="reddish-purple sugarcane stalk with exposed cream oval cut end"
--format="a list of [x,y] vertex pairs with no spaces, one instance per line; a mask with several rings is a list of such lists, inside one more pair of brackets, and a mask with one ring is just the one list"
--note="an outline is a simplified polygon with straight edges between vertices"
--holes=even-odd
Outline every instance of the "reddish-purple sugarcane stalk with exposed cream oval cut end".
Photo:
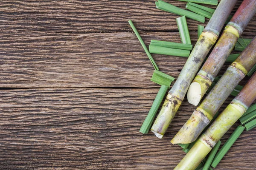
[[189,103],[198,105],[255,12],[256,0],[244,0],[190,85],[187,94]]

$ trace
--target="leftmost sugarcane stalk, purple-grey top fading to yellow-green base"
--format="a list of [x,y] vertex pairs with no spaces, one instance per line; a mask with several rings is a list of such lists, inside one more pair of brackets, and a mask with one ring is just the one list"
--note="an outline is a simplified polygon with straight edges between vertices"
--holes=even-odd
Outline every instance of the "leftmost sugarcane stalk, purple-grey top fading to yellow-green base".
[[221,28],[224,26],[227,17],[232,11],[237,0],[221,0],[216,12],[212,15],[209,23],[204,28],[189,58],[186,61],[177,81],[169,91],[163,107],[157,116],[151,130],[159,138],[162,138],[178,108],[183,101],[185,94],[195,74],[199,70],[209,50],[218,39]]

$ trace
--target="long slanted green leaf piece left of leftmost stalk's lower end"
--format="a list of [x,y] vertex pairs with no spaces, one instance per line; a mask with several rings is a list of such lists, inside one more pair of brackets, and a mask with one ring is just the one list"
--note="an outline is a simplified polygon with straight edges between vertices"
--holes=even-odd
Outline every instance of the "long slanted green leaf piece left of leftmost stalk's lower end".
[[163,97],[166,94],[166,91],[168,90],[169,87],[162,85],[161,88],[159,89],[156,98],[154,99],[154,102],[148,112],[148,115],[146,119],[144,120],[142,126],[140,127],[140,132],[145,134],[148,133],[148,130],[150,130],[150,127],[152,126],[154,117],[157,114],[158,108],[160,104],[163,101]]

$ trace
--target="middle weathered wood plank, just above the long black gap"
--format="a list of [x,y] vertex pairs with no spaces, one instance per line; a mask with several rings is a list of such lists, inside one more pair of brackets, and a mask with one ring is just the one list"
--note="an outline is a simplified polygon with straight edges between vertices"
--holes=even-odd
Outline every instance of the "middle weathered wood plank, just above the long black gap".
[[[10,34],[12,36],[10,36]],[[179,33],[144,32],[151,39],[180,42]],[[247,36],[247,37],[252,37]],[[197,33],[191,33],[195,44]],[[160,70],[177,78],[183,57],[152,54]],[[0,87],[158,87],[154,71],[134,33],[19,33],[2,34]]]

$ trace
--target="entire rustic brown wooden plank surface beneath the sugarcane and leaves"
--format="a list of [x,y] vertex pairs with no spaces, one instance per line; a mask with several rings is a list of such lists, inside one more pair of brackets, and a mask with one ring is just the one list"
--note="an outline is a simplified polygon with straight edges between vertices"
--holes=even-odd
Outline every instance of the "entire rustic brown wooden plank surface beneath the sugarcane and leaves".
[[[180,42],[176,17],[154,0],[1,0],[0,169],[173,169],[185,153],[170,140],[195,107],[185,99],[161,140],[139,133],[160,86],[128,20],[148,45]],[[201,23],[187,22],[195,44]],[[243,37],[255,26],[253,17]],[[186,62],[153,57],[175,78]],[[255,140],[255,129],[242,133],[216,169],[256,169]]]

